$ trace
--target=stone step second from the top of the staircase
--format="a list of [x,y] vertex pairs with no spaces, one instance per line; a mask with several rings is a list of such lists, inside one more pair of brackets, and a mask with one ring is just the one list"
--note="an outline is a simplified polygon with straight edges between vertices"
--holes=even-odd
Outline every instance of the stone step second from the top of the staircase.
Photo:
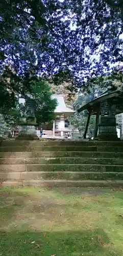
[[1,146],[0,152],[58,152],[58,151],[84,151],[84,152],[121,152],[122,146]]

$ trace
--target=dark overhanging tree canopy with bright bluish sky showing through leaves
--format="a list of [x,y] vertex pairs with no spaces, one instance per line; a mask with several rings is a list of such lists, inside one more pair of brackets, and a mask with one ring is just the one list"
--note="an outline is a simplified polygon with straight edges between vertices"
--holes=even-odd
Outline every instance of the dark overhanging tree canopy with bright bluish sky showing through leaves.
[[110,73],[122,62],[122,21],[122,0],[1,1],[1,106],[37,75],[72,89]]

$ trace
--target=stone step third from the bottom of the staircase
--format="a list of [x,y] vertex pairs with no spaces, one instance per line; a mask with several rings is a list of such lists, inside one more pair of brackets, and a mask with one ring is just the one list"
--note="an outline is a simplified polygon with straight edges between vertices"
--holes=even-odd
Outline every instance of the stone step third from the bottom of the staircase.
[[0,172],[123,172],[123,165],[108,164],[1,164]]

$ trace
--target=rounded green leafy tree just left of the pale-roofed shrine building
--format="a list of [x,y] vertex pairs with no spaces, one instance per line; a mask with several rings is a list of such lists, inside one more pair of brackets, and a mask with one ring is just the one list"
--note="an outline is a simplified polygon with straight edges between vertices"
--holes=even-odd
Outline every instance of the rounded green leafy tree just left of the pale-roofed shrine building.
[[38,125],[52,121],[55,118],[54,110],[57,101],[52,98],[51,87],[40,78],[31,80],[29,86],[31,87],[31,94],[24,96],[24,109],[27,112],[31,110],[34,112]]

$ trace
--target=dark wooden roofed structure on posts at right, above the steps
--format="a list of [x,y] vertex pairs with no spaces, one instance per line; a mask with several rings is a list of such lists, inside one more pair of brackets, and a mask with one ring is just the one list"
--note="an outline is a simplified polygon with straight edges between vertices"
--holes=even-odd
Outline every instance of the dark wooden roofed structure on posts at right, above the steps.
[[116,131],[117,114],[123,112],[123,93],[114,90],[107,90],[92,101],[86,103],[78,109],[78,113],[87,110],[88,119],[84,133],[86,138],[91,115],[96,115],[94,139],[118,140]]

